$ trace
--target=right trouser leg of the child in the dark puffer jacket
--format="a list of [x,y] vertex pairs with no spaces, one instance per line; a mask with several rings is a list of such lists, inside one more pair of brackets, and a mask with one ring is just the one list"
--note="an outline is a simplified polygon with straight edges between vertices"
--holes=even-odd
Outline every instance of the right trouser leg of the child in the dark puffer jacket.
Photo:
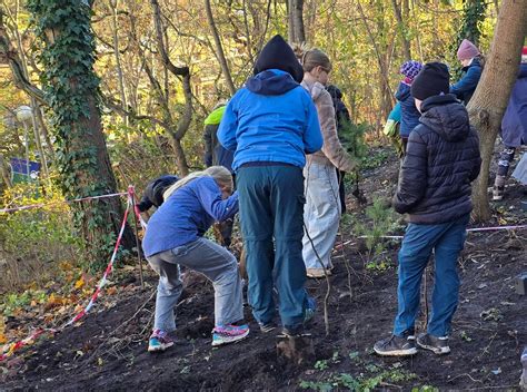
[[467,215],[456,220],[435,247],[436,275],[427,331],[432,336],[447,336],[451,331],[451,320],[459,302],[457,259],[467,236],[468,219]]

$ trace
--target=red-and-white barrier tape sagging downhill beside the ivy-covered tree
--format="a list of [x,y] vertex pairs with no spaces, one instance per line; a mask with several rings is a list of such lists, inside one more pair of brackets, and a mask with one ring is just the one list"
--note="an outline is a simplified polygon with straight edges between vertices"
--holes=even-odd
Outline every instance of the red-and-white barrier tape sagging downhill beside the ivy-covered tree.
[[[102,278],[99,281],[99,284],[97,285],[96,291],[91,295],[91,298],[90,298],[90,302],[88,303],[88,305],[81,312],[79,312],[74,317],[72,317],[70,321],[68,321],[63,325],[61,325],[58,330],[54,330],[54,329],[38,329],[34,332],[32,332],[28,337],[26,337],[21,341],[9,344],[7,351],[4,351],[2,354],[0,354],[0,362],[6,360],[7,357],[11,356],[17,350],[19,350],[19,349],[21,349],[26,345],[29,345],[30,343],[33,343],[37,337],[39,337],[41,334],[43,334],[46,332],[50,332],[50,333],[61,332],[67,326],[72,325],[73,323],[78,322],[80,318],[82,318],[91,310],[95,302],[99,297],[102,287],[108,283],[108,275],[113,271],[113,263],[116,261],[117,252],[119,249],[119,245],[120,245],[121,239],[122,239],[122,234],[125,233],[125,227],[126,227],[126,224],[127,224],[127,218],[128,218],[128,213],[130,212],[130,207],[132,207],[132,208],[136,207],[135,203],[133,203],[133,187],[132,186],[128,187],[127,193],[119,193],[119,194],[103,195],[103,196],[96,196],[95,197],[95,198],[101,198],[101,197],[113,197],[113,196],[122,196],[122,195],[128,195],[128,200],[127,200],[127,209],[125,210],[125,216],[122,217],[122,223],[121,223],[121,228],[119,231],[119,236],[117,237],[116,246],[113,247],[113,253],[111,255],[110,263],[108,263],[108,266],[105,271],[105,274],[102,275]],[[83,198],[83,199],[86,199],[86,198]],[[81,200],[81,199],[77,199],[77,200]]]

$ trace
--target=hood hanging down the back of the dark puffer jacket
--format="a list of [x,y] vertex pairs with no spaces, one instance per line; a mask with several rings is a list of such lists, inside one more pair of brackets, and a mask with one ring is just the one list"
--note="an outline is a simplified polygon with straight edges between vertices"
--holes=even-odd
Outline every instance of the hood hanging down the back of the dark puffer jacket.
[[448,141],[465,140],[470,130],[468,112],[456,96],[432,96],[421,104],[419,122],[426,125]]

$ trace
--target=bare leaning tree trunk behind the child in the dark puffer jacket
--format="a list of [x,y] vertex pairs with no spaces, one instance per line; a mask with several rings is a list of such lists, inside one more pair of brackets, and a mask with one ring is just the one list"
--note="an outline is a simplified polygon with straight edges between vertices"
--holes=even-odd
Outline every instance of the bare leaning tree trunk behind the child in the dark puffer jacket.
[[476,220],[490,218],[488,174],[494,144],[516,81],[521,45],[527,32],[527,0],[504,0],[496,24],[490,53],[479,85],[468,105],[470,122],[479,130],[481,171],[473,186]]

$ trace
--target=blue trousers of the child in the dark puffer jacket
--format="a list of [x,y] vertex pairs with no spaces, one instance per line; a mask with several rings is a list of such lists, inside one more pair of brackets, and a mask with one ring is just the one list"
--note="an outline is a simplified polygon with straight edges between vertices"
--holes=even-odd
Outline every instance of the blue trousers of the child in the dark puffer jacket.
[[427,332],[432,336],[447,336],[450,333],[459,300],[457,259],[465,244],[468,220],[469,214],[437,225],[408,225],[399,251],[395,335],[401,336],[415,330],[421,277],[432,251],[435,278]]

